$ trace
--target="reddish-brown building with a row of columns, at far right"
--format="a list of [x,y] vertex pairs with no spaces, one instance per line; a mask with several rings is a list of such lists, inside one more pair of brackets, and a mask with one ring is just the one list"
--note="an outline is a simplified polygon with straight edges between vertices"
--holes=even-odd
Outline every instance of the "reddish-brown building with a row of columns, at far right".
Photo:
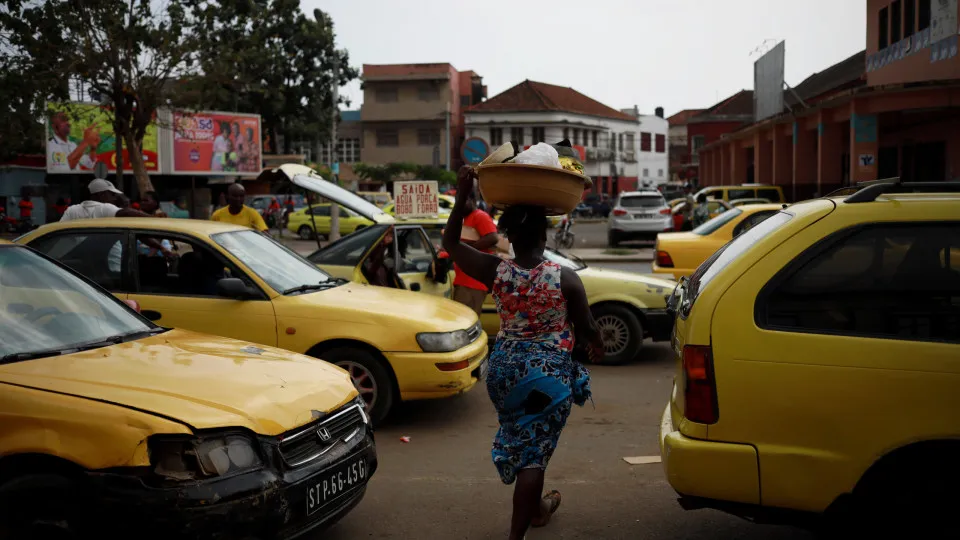
[[868,0],[866,49],[798,85],[784,112],[701,148],[701,184],[754,180],[800,200],[876,178],[957,179],[958,15],[957,0]]

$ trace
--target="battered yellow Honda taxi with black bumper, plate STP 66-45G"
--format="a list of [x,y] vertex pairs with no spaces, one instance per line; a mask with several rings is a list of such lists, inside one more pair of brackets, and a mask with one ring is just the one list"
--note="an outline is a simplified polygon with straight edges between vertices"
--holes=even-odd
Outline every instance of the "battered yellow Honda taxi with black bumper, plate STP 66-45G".
[[0,536],[289,538],[360,502],[346,371],[135,307],[0,241]]

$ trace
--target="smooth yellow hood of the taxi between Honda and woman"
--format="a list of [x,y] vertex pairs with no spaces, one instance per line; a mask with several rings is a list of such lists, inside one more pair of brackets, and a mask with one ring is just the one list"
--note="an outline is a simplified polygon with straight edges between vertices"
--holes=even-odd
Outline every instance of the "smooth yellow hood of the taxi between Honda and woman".
[[281,296],[274,300],[277,317],[317,319],[366,325],[376,335],[450,332],[470,328],[477,314],[463,304],[424,294],[361,283]]

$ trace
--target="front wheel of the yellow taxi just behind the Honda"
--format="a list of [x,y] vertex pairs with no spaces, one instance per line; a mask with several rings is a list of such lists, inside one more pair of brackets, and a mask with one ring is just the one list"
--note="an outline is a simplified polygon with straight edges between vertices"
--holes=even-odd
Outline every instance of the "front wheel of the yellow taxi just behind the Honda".
[[367,414],[375,426],[379,425],[390,413],[396,399],[393,379],[383,363],[362,349],[330,349],[319,356],[350,373],[353,386],[367,404]]

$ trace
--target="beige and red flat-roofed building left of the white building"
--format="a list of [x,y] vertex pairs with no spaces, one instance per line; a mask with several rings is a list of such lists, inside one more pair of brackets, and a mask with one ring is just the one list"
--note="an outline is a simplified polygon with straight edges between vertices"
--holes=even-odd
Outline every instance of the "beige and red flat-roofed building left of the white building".
[[360,159],[456,169],[463,109],[486,97],[483,79],[450,64],[364,64]]

